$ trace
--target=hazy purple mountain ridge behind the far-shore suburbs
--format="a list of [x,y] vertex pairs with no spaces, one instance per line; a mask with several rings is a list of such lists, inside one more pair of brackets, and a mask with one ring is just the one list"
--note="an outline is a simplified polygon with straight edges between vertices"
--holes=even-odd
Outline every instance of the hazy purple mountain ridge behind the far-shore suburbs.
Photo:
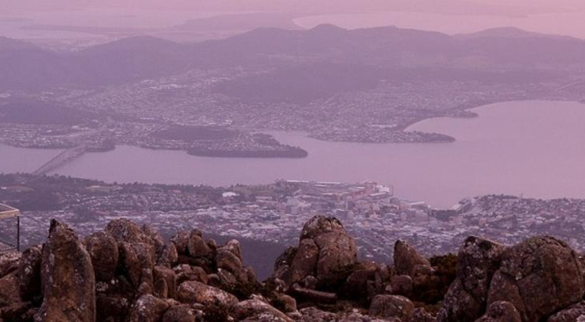
[[449,36],[396,27],[261,28],[223,40],[180,44],[131,37],[61,53],[0,38],[0,88],[93,87],[168,76],[190,68],[364,64],[470,70],[585,70],[585,41],[515,28]]

